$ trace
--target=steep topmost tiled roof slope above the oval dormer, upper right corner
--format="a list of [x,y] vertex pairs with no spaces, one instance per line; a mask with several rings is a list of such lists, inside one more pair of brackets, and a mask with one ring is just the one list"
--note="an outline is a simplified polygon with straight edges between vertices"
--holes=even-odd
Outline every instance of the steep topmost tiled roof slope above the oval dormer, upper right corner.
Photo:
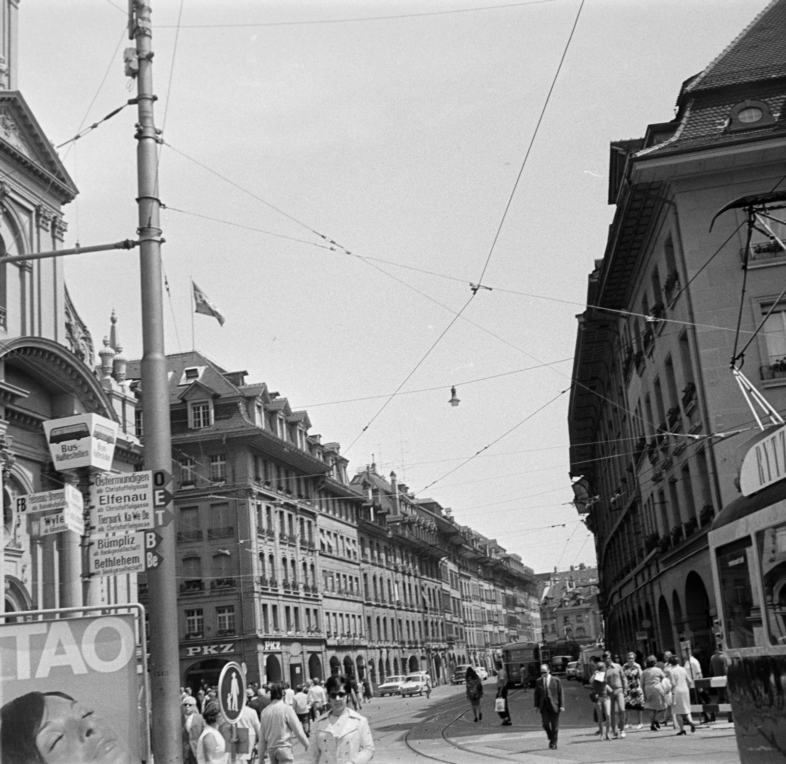
[[773,0],[686,88],[688,93],[786,77],[786,0]]

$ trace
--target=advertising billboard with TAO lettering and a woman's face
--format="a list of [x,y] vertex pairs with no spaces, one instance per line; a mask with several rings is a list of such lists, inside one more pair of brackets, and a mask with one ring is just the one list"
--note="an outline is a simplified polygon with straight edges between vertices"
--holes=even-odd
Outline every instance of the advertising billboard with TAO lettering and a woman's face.
[[134,615],[0,624],[0,761],[142,755]]

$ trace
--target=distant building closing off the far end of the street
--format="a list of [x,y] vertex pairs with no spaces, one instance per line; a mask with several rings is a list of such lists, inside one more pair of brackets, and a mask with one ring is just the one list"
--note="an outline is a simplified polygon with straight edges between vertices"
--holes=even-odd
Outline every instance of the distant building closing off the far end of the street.
[[597,568],[579,564],[570,570],[538,573],[541,584],[543,641],[593,645],[603,641],[597,602]]

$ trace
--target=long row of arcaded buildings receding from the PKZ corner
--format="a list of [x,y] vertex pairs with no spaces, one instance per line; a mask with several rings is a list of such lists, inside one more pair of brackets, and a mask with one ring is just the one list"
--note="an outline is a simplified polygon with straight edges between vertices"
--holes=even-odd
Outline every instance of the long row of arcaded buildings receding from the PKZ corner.
[[[196,351],[167,363],[184,684],[215,683],[230,659],[249,681],[292,685],[490,667],[490,650],[516,635],[513,595],[533,580],[519,558],[395,474],[372,465],[348,483],[339,444],[244,371]],[[138,380],[139,362],[127,373]]]

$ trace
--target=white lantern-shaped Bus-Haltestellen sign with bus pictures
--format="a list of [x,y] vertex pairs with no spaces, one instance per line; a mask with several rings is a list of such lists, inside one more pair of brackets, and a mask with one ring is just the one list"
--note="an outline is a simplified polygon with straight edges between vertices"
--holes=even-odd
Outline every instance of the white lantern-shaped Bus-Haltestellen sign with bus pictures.
[[98,414],[76,414],[43,422],[54,467],[58,471],[95,467],[112,469],[117,422]]

